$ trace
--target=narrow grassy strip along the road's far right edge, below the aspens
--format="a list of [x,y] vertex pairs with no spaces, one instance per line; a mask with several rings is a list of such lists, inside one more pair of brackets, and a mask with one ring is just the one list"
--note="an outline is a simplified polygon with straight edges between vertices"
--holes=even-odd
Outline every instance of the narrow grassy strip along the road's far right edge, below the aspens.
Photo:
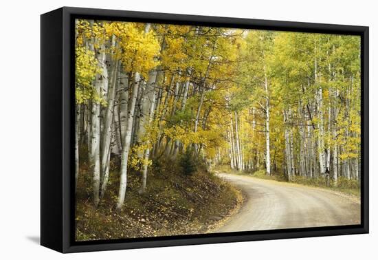
[[[282,173],[272,173],[271,175],[266,175],[265,170],[258,170],[254,172],[247,172],[247,171],[236,171],[234,169],[230,169],[230,166],[217,166],[216,171],[222,173],[232,173],[236,175],[249,175],[252,177],[257,177],[260,179],[265,180],[276,180],[278,182],[287,182],[287,177]],[[341,193],[346,193],[348,195],[353,195],[355,197],[361,196],[361,188],[359,186],[359,182],[357,180],[347,180],[345,177],[339,177],[337,180],[337,185],[333,184],[333,180],[330,180],[329,186],[326,186],[325,177],[316,177],[316,178],[309,178],[304,176],[294,176],[291,182],[296,184],[302,184],[306,186],[315,186],[319,188],[326,188],[332,191],[337,191]]]

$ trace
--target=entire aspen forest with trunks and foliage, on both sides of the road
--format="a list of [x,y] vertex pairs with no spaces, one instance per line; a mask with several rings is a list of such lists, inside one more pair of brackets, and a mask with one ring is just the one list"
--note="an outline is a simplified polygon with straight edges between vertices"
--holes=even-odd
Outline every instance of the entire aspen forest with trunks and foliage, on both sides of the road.
[[152,160],[359,178],[359,37],[76,20],[76,178],[93,203],[118,158],[146,190]]

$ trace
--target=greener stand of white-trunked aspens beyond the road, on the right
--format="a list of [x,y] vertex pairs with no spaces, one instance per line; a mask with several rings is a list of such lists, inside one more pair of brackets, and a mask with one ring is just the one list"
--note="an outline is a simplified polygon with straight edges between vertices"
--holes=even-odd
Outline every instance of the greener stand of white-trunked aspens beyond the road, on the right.
[[256,31],[245,44],[232,168],[359,180],[359,37]]

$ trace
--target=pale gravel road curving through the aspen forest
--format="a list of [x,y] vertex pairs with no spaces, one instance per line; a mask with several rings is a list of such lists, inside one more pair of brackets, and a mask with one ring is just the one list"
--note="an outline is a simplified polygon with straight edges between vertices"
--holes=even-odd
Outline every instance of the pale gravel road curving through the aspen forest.
[[241,188],[241,210],[216,232],[342,226],[360,223],[359,200],[320,188],[219,173]]

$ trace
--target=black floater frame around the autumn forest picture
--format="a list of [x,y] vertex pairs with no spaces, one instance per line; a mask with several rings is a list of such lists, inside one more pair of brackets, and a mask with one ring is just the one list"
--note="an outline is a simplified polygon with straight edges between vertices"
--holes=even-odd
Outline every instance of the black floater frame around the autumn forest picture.
[[[362,40],[360,225],[74,241],[74,19],[352,34]],[[368,233],[368,27],[63,7],[41,15],[41,245],[59,252],[183,246]]]

